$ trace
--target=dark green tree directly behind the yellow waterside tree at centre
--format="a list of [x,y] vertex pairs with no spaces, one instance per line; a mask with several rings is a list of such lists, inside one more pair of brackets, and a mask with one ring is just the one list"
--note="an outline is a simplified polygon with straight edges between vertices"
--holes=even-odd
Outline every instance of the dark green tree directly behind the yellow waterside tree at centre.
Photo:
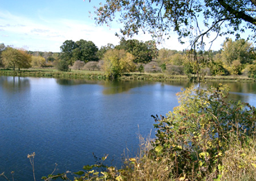
[[147,63],[152,61],[157,54],[158,49],[156,48],[156,43],[154,41],[138,41],[137,39],[122,39],[120,45],[116,46],[118,50],[126,50],[131,55],[134,55],[135,63]]

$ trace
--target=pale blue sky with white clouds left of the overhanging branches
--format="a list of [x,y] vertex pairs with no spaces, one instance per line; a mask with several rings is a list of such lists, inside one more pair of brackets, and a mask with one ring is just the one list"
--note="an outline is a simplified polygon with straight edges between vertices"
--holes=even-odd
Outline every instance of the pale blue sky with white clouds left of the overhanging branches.
[[[0,43],[15,48],[33,51],[60,52],[60,46],[69,39],[93,41],[100,48],[108,43],[117,45],[115,36],[121,25],[113,23],[111,28],[96,26],[89,15],[99,0],[0,0]],[[150,35],[140,35],[134,39],[148,41]],[[212,46],[219,50],[223,38]],[[188,44],[179,44],[176,33],[158,48],[183,50]]]

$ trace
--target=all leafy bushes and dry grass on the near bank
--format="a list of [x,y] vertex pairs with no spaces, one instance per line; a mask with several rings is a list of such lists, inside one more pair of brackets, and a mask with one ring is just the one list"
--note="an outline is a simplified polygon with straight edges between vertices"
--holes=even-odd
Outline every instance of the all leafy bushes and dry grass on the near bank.
[[165,117],[152,115],[156,139],[141,139],[140,154],[122,169],[100,162],[84,166],[75,178],[63,173],[44,179],[256,180],[256,109],[228,101],[228,90],[220,84],[178,93],[179,106]]

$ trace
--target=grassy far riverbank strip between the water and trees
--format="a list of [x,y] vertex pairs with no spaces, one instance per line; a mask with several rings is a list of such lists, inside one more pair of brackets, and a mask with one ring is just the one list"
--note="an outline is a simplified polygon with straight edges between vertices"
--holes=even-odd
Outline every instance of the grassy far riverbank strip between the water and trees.
[[[93,70],[71,70],[69,72],[61,72],[55,69],[24,69],[24,70],[6,70],[0,69],[0,75],[15,77],[53,77],[66,79],[107,79],[102,71]],[[179,81],[189,80],[187,75],[168,75],[165,73],[125,73],[118,79],[122,80],[147,80],[147,81]],[[255,82],[255,79],[241,76],[205,76],[206,81],[224,81],[224,82]]]

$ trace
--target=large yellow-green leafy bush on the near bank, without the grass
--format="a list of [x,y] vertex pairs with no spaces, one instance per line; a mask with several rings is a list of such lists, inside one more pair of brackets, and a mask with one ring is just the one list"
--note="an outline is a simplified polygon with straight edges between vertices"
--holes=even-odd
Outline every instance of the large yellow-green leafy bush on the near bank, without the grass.
[[256,109],[241,102],[228,102],[228,87],[208,90],[188,88],[178,94],[179,106],[167,117],[154,117],[157,124],[153,158],[170,155],[170,175],[189,180],[221,177],[223,155],[232,140],[246,142],[255,133]]

